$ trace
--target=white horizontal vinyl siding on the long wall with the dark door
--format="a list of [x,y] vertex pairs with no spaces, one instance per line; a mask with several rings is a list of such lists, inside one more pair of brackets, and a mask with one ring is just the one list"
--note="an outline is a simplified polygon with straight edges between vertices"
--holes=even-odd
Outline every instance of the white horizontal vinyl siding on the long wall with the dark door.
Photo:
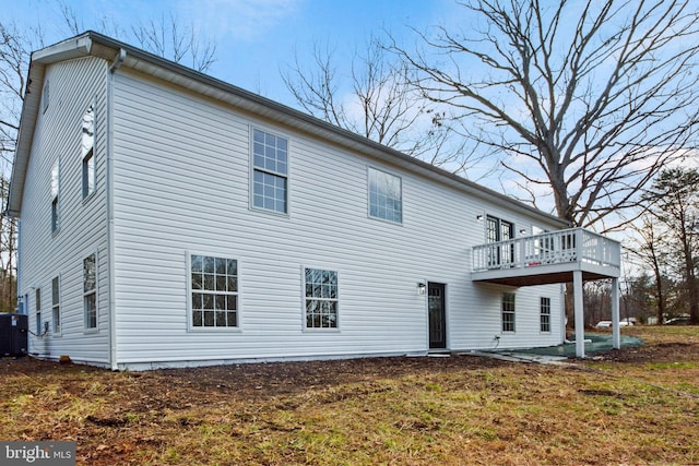
[[[114,121],[121,367],[420,354],[428,349],[427,310],[416,284],[424,280],[449,285],[449,349],[493,346],[503,288],[470,279],[471,247],[484,242],[483,223],[474,218],[493,212],[524,224],[525,213],[144,81],[128,69],[115,74]],[[293,147],[291,216],[250,208],[250,128],[284,134]],[[400,177],[401,228],[367,218],[369,166]],[[238,277],[245,312],[235,334],[191,331],[187,251],[245,264]],[[305,265],[337,271],[342,278],[342,332],[306,331]],[[540,337],[538,297],[557,296],[557,289],[518,291],[518,306],[531,312],[518,315],[517,334],[502,335],[501,346],[524,346],[531,332]],[[557,328],[560,316],[552,322]],[[561,340],[552,333],[537,343]]]

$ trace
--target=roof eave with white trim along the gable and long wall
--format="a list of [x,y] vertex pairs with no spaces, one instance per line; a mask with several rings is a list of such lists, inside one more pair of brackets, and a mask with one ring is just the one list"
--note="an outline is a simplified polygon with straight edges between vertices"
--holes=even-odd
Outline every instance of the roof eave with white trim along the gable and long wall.
[[344,147],[356,150],[382,162],[401,166],[413,172],[417,172],[429,179],[451,186],[452,188],[467,192],[481,199],[490,200],[500,205],[528,211],[543,220],[558,224],[561,227],[570,226],[568,222],[556,217],[555,215],[534,208],[497,191],[459,177],[450,171],[435,167],[431,164],[389,148],[367,138],[330,124],[323,120],[295,110],[277,101],[250,93],[240,87],[94,32],[86,32],[80,36],[63,40],[32,55],[29,80],[27,81],[29,85],[27,85],[27,95],[22,109],[17,151],[15,155],[15,164],[12,170],[12,184],[10,187],[10,200],[8,203],[8,212],[10,215],[19,216],[22,206],[24,177],[26,176],[26,166],[32,148],[34,127],[40,105],[45,65],[88,55],[106,60],[114,60],[120,49],[126,50],[127,52],[127,59],[123,64],[128,68],[151,74],[157,79],[188,88],[198,94],[203,94],[214,99],[235,105],[236,107],[251,113],[269,118],[272,121],[300,130],[305,133],[312,134]]

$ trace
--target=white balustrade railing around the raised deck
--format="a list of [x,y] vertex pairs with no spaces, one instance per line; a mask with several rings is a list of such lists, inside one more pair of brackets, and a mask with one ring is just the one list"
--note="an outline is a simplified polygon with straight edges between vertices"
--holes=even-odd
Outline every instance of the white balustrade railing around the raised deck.
[[473,248],[473,271],[585,262],[620,266],[620,244],[583,228],[532,235]]

